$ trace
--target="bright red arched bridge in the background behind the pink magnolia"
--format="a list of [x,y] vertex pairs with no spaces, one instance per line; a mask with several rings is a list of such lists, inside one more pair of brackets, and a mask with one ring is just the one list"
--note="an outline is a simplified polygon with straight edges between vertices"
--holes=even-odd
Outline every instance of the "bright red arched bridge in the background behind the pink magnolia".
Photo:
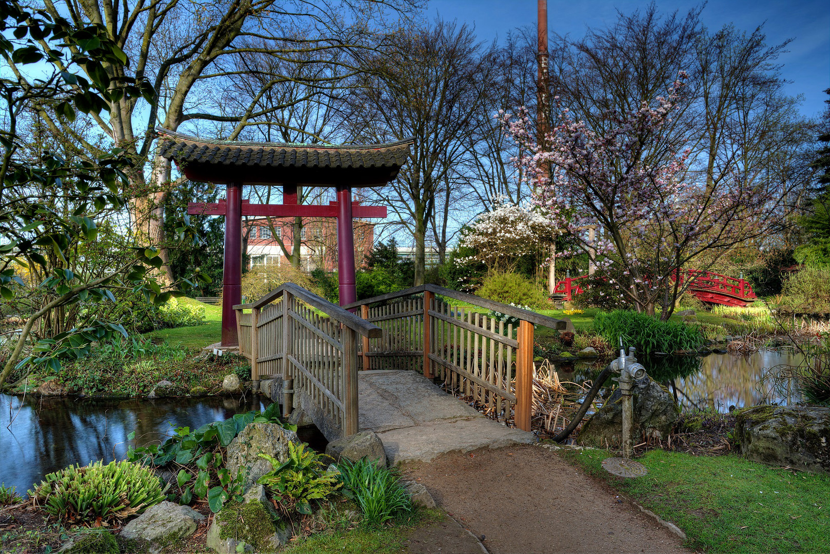
[[[556,283],[554,294],[564,295],[564,299],[571,300],[575,294],[588,290],[588,275],[580,277],[565,277]],[[676,277],[672,277],[674,280]],[[725,306],[748,306],[754,301],[755,293],[752,285],[745,279],[736,279],[720,275],[720,273],[701,272],[697,269],[680,270],[681,287],[684,282],[692,281],[689,292],[701,302],[724,304]]]

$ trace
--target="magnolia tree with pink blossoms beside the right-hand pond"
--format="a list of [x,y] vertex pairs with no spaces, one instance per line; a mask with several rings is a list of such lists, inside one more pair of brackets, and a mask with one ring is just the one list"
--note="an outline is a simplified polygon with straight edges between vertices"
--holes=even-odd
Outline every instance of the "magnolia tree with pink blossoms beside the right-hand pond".
[[[621,299],[650,315],[662,306],[663,319],[691,284],[676,280],[678,269],[706,269],[696,267],[702,252],[715,252],[706,257],[714,262],[778,226],[789,190],[741,174],[708,187],[691,179],[690,151],[666,152],[660,140],[683,77],[652,104],[607,112],[601,131],[559,104],[544,150],[535,144],[526,110],[500,114],[507,134],[531,153],[515,161],[526,169],[549,225],[572,235],[589,256],[595,252],[598,271]],[[598,226],[593,243],[585,225]]]

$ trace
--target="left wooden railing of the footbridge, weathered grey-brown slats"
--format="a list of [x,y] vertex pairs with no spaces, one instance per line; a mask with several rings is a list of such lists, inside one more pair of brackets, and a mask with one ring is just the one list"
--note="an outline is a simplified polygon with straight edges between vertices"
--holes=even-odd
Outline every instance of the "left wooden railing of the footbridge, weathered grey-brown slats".
[[233,308],[239,349],[251,360],[255,386],[263,376],[293,379],[293,388],[284,390],[286,413],[299,393],[344,436],[357,433],[358,336],[376,339],[383,331],[290,282]]

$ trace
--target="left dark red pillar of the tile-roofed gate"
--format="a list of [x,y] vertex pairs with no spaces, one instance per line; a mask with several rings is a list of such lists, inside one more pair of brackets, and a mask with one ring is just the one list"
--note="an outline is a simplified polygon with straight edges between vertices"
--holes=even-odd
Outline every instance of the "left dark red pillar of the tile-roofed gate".
[[228,183],[226,199],[222,346],[237,346],[237,312],[233,306],[242,303],[242,183]]

